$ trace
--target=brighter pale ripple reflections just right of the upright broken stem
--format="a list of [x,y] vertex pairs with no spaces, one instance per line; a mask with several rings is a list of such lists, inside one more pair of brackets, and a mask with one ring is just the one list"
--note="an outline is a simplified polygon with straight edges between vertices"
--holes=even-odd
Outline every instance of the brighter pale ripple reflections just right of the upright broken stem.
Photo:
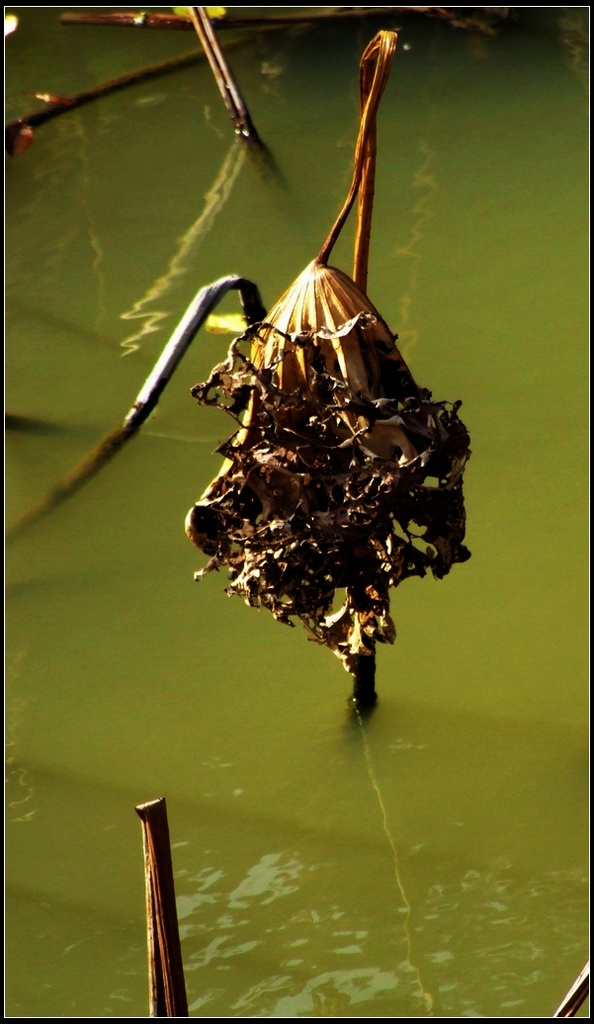
[[[324,868],[322,863],[305,865],[297,856],[273,853],[262,856],[230,892],[224,891],[224,883],[221,885],[223,872],[210,868],[194,880],[184,880],[184,886],[192,881],[199,883],[195,896],[182,895],[177,900],[186,948],[196,945],[193,938],[204,942],[205,934],[216,933],[190,953],[186,972],[208,968],[210,977],[213,971],[235,969],[240,978],[230,984],[241,988],[242,979],[253,975],[256,964],[264,970],[265,965],[278,962],[285,971],[265,975],[249,985],[230,1007],[237,1012],[235,1016],[349,1015],[350,1008],[383,997],[396,986],[409,998],[419,998],[416,979],[411,979],[415,969],[408,958],[397,963],[402,949],[398,951],[395,933],[391,937],[391,957],[397,963],[397,971],[357,966],[320,972],[319,961],[325,957],[365,964],[369,961],[371,938],[369,929],[345,927],[347,910],[340,905],[326,910],[313,906],[295,910],[311,898],[303,876]],[[262,929],[261,908],[277,900],[285,901],[284,908],[279,908],[274,919],[266,919],[269,923]],[[205,904],[210,907],[208,916],[213,916],[211,925],[205,920]],[[235,912],[238,910],[245,912],[238,914]],[[190,916],[196,919],[194,925],[188,924]],[[250,937],[254,931],[259,938]],[[188,974],[188,979],[201,992],[190,1009],[198,1010],[208,1004],[210,1011],[216,1013],[216,1004],[225,997],[229,982],[217,988],[210,987],[200,974],[197,978]],[[423,993],[423,998],[430,1009],[430,997]]]

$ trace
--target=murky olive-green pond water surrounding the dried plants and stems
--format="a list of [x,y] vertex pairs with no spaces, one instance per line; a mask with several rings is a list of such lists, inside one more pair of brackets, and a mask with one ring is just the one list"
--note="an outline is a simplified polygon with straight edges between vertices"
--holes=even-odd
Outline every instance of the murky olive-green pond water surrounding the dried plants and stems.
[[[6,121],[198,48],[13,10]],[[588,958],[588,7],[221,32],[278,176],[204,60],[37,128],[5,165],[5,401],[40,421],[6,432],[6,525],[121,423],[201,286],[270,306],[314,258],[380,28],[368,291],[463,401],[472,558],[394,593],[365,719],[301,627],[195,583],[183,520],[232,430],[189,394],[230,340],[202,330],[138,436],[7,538],[8,1017],[148,1015],[134,808],[161,796],[190,1016],[548,1017]]]

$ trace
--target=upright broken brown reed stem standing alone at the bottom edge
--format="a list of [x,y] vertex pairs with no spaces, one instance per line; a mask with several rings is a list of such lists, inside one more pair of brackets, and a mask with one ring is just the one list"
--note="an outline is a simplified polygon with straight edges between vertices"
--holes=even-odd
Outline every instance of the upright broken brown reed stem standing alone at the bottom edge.
[[151,1017],[188,1017],[165,798],[135,808],[142,822]]

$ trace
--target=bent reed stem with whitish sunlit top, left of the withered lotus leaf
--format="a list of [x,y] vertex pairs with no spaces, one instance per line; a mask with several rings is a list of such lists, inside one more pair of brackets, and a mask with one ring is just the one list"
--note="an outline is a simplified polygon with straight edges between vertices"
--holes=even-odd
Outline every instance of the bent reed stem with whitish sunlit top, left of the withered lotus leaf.
[[256,285],[247,278],[236,274],[221,278],[212,285],[201,288],[190,302],[181,321],[177,325],[167,345],[163,349],[153,371],[138,392],[136,401],[128,412],[123,423],[111,430],[102,440],[63,477],[48,495],[32,509],[25,513],[7,531],[7,539],[15,537],[26,526],[31,526],[48,512],[57,508],[76,494],[77,490],[101,469],[139,430],[141,425],[157,407],[166,385],[171,380],[173,372],[204,324],[210,311],[231,289],[240,293],[242,307],[248,324],[257,324],[266,315]]

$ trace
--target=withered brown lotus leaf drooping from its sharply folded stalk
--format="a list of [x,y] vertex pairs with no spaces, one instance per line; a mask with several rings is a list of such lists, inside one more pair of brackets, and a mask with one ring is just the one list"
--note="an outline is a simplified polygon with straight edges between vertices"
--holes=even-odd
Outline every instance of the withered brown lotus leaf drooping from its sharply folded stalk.
[[[469,557],[460,402],[416,384],[366,294],[376,115],[395,46],[383,31],[362,57],[352,184],[320,254],[192,389],[237,429],[185,521],[210,556],[197,579],[224,567],[228,594],[301,621],[355,677],[355,696],[367,678],[370,703],[376,643],[395,638],[391,589]],[[357,196],[352,280],[328,260]]]

